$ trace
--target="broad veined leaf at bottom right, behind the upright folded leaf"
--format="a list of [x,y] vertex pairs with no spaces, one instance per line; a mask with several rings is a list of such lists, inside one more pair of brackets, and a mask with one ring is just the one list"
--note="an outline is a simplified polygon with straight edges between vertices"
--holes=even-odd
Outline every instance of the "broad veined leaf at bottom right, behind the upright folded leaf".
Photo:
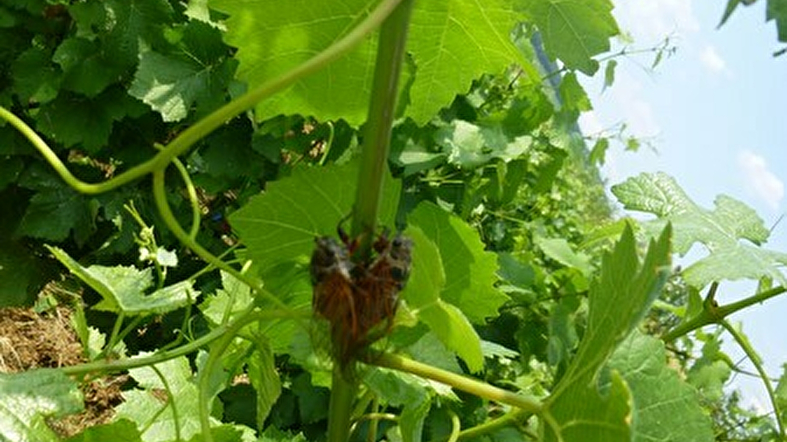
[[711,442],[711,420],[700,407],[696,390],[665,363],[664,344],[637,330],[609,359],[631,389],[634,442]]

